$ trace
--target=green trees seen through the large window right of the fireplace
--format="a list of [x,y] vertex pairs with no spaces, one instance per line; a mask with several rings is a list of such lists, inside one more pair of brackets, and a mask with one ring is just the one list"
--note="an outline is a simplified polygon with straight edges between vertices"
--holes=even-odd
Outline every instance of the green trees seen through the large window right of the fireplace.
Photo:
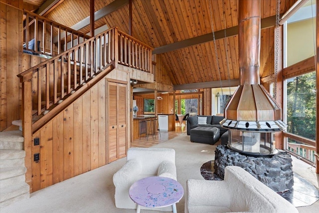
[[287,83],[287,132],[316,140],[316,72]]

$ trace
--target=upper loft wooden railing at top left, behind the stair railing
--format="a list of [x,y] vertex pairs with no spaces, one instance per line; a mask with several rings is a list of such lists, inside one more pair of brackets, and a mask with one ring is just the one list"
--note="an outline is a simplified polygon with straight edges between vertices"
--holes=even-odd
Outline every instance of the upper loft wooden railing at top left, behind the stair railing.
[[[23,9],[23,15],[25,15],[23,43],[24,51],[29,51],[27,53],[54,56],[73,47],[75,43],[79,44],[91,38],[89,35],[28,10]],[[33,41],[34,46],[29,47],[30,41]]]

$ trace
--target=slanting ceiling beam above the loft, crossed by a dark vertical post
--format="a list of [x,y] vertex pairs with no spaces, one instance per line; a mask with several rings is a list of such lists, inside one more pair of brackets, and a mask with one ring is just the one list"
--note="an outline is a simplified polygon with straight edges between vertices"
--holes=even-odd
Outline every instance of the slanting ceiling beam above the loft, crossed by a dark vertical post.
[[[122,6],[125,6],[129,3],[129,0],[114,0],[110,4],[106,5],[105,7],[99,9],[94,13],[94,21],[99,20],[100,18],[103,18],[104,16],[110,14],[111,12],[114,12],[115,10],[121,8]],[[83,20],[79,21],[78,23],[71,26],[72,29],[80,30],[90,24],[90,16],[87,16]]]

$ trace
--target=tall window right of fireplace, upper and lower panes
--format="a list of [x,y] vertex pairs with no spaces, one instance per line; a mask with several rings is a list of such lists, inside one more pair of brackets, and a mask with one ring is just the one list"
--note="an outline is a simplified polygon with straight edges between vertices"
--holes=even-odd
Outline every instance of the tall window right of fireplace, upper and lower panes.
[[[315,55],[316,1],[303,1],[284,24],[284,67]],[[302,33],[301,33],[302,32]],[[285,148],[315,163],[316,147],[316,72],[284,81]]]

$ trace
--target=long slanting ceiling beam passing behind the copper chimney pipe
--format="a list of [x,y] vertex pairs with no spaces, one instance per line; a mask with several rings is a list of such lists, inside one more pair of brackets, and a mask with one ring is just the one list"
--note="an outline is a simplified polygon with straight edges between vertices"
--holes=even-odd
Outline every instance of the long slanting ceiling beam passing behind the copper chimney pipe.
[[[275,26],[275,24],[276,24],[276,15],[261,19],[261,28],[262,29]],[[234,36],[234,35],[238,35],[238,26],[226,28],[226,36],[227,37]],[[215,39],[216,40],[224,38],[224,37],[225,37],[225,30],[224,29],[218,30],[215,32]],[[182,40],[179,42],[175,42],[175,43],[171,43],[171,44],[157,47],[153,50],[152,54],[160,54],[160,53],[170,52],[170,51],[173,51],[176,49],[181,49],[181,48],[185,48],[185,47],[200,44],[200,43],[206,43],[206,42],[209,42],[212,40],[213,40],[213,33],[207,33],[207,34],[200,35],[197,37],[193,37],[193,38],[189,38],[189,39]]]

